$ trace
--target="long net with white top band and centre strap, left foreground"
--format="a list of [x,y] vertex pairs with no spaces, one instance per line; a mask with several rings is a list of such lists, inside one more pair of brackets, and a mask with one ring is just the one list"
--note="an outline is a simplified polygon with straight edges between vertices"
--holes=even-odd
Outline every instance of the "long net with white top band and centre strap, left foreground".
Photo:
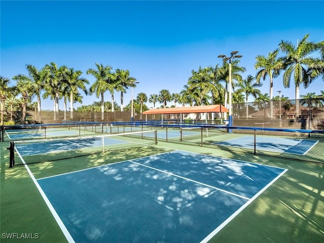
[[[10,143],[10,167],[89,155],[133,146],[157,144],[156,131],[140,131],[65,139],[22,140]],[[13,151],[11,151],[13,153]]]

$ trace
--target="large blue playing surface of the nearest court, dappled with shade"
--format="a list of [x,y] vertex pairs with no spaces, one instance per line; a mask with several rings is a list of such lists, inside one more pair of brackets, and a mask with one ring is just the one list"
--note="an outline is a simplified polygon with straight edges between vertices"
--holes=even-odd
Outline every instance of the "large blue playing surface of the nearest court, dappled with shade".
[[285,172],[176,150],[37,182],[71,242],[207,242]]

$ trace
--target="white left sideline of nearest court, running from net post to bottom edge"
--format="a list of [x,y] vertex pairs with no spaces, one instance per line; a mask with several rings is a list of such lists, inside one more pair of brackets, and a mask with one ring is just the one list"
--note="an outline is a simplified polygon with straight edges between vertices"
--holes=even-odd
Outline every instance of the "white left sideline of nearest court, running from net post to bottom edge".
[[57,214],[57,212],[55,211],[53,205],[51,204],[50,200],[47,198],[45,192],[43,191],[42,187],[38,184],[37,180],[35,179],[34,175],[31,173],[29,167],[27,166],[27,164],[25,163],[25,160],[22,158],[22,156],[20,155],[20,153],[18,152],[18,150],[16,149],[16,152],[18,154],[18,156],[20,157],[21,161],[23,162],[29,176],[31,177],[32,181],[34,182],[36,188],[38,189],[39,193],[41,193],[47,207],[49,208],[49,210],[51,211],[54,219],[56,220],[57,224],[59,225],[59,227],[61,228],[65,238],[67,239],[68,242],[70,243],[75,243],[74,239],[72,238],[70,232],[67,230],[67,228],[65,227],[63,221],[61,220],[60,216]]

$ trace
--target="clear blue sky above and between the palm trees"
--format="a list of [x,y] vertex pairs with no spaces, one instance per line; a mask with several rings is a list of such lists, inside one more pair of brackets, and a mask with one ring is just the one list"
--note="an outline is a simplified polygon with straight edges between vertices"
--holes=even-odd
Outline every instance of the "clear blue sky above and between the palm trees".
[[[281,40],[297,45],[307,33],[309,41],[324,40],[324,1],[1,1],[0,8],[2,76],[55,62],[82,70],[92,84],[86,70],[98,62],[129,69],[140,82],[134,98],[162,89],[179,93],[192,69],[221,64],[220,54],[239,51],[246,78],[256,73],[256,56],[267,56]],[[285,89],[282,77],[273,89],[295,98],[294,84]],[[300,94],[320,90],[324,82],[317,79]],[[261,91],[269,93],[268,78]],[[100,99],[82,95],[84,105]],[[124,104],[130,100],[128,90]],[[115,101],[120,104],[120,93]],[[53,101],[42,101],[42,109],[53,109]]]

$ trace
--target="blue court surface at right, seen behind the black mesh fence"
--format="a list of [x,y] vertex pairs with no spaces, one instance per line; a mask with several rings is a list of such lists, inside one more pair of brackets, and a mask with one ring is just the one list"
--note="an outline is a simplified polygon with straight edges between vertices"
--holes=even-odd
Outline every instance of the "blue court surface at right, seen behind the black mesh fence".
[[[280,137],[262,137],[256,138],[256,149],[268,152],[277,153],[294,153],[306,154],[318,140],[311,139],[295,139],[295,138],[280,138]],[[254,137],[244,136],[234,139],[229,139],[222,142],[215,142],[212,144],[254,149]]]

